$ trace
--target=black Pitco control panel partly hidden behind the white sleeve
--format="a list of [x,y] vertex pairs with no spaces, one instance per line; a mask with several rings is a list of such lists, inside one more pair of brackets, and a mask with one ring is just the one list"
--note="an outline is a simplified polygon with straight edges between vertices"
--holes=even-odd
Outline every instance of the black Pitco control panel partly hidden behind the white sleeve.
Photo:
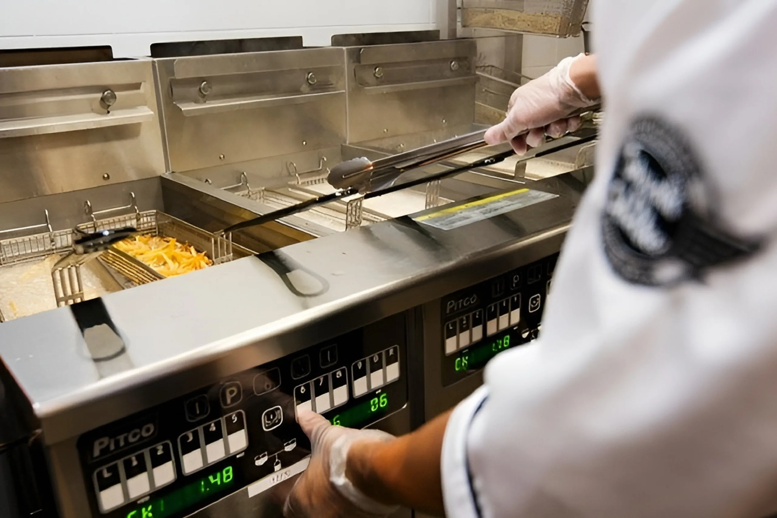
[[493,356],[537,338],[559,254],[442,299],[442,382],[459,381]]

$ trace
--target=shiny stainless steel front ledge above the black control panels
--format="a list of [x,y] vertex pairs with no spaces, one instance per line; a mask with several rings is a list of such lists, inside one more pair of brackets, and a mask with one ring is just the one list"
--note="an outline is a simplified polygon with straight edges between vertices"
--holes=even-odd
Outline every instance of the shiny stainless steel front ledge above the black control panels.
[[54,443],[538,259],[521,249],[563,238],[579,199],[575,181],[552,185],[561,196],[452,231],[402,217],[263,255],[325,279],[313,297],[253,256],[107,295],[114,360],[91,359],[70,308],[0,325],[0,356]]

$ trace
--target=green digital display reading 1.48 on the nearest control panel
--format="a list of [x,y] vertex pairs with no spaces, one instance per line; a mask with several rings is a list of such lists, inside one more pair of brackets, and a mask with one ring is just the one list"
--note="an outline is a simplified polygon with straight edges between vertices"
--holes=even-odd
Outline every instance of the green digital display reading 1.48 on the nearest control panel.
[[127,513],[126,518],[165,518],[174,513],[193,506],[197,502],[211,497],[235,484],[232,466],[227,466],[192,482],[183,488],[176,489],[169,495],[158,499],[149,500],[138,508]]

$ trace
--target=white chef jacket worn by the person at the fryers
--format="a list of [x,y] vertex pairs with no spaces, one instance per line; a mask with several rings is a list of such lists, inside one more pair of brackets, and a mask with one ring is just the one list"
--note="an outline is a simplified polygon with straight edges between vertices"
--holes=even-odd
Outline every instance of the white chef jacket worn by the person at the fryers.
[[[451,415],[449,518],[760,518],[777,511],[777,2],[598,0],[607,115],[540,338]],[[630,282],[602,214],[629,121],[678,127],[761,250],[701,280]]]

